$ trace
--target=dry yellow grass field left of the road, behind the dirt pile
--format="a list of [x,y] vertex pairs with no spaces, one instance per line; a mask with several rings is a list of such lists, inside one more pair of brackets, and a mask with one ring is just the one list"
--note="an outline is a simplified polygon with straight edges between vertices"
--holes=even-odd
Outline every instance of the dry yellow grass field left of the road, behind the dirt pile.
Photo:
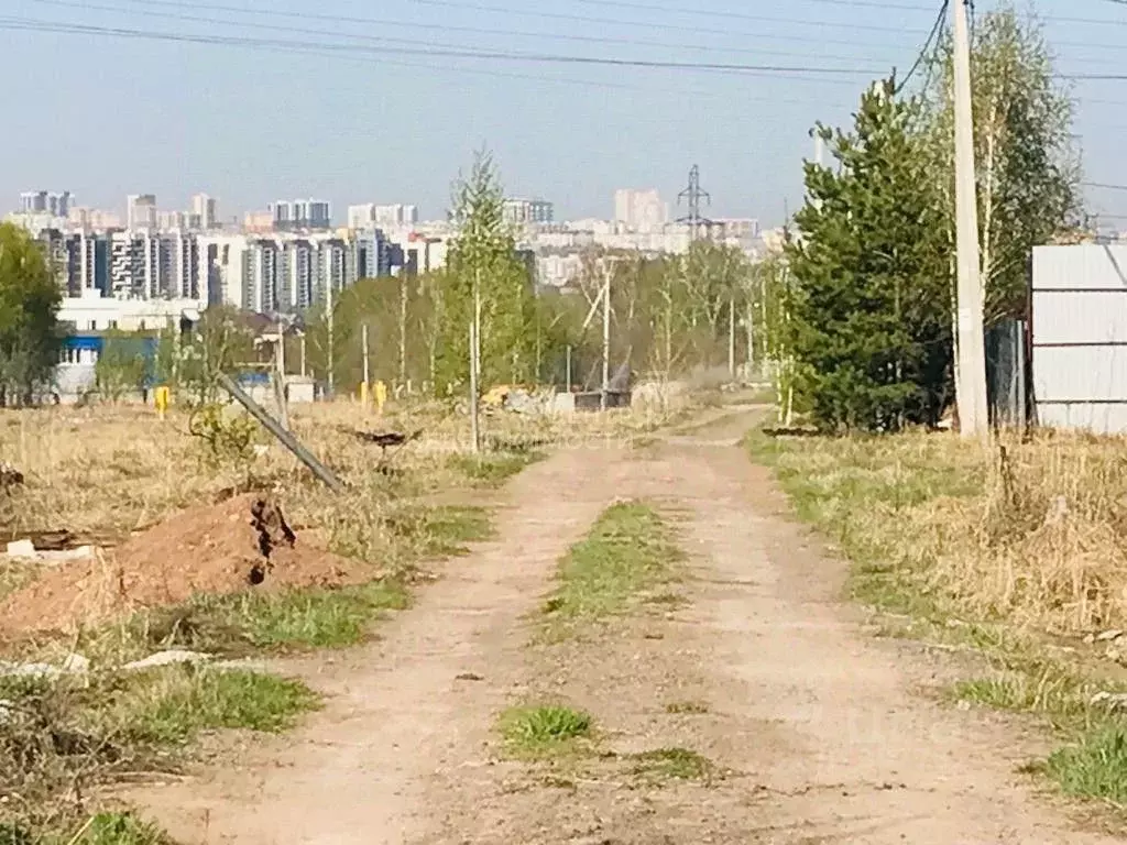
[[[443,471],[435,459],[469,447],[465,418],[438,403],[412,403],[380,418],[345,401],[295,406],[292,416],[307,445],[353,483],[372,480],[380,452],[343,427],[424,429],[421,441],[397,461],[403,470],[394,490],[400,496],[453,486],[456,473]],[[503,450],[535,448],[607,437],[629,439],[662,421],[633,413],[605,419],[583,415],[570,420],[505,415],[487,420],[486,433]],[[0,411],[0,459],[27,477],[27,484],[16,495],[0,498],[0,540],[68,528],[80,537],[114,542],[245,487],[247,480],[239,470],[216,470],[203,460],[202,443],[188,435],[187,427],[184,412],[174,412],[161,422],[151,409],[131,406]],[[291,507],[309,512],[310,517],[323,513],[327,502],[322,500],[328,497],[304,468],[265,433],[259,443],[268,450],[250,468],[255,483],[287,496]]]

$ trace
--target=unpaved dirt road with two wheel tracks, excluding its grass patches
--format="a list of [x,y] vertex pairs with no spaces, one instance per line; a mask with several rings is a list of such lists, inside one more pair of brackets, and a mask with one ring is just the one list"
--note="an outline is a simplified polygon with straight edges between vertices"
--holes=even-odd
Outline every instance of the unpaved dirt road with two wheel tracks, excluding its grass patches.
[[[921,691],[943,665],[861,631],[838,602],[843,564],[735,445],[746,425],[527,470],[497,541],[450,562],[378,642],[289,667],[329,695],[304,728],[132,798],[185,845],[1118,842],[1015,773],[1040,749],[1012,727]],[[632,497],[683,521],[686,603],[530,646],[557,559]],[[530,699],[583,706],[620,755],[690,748],[726,775],[503,762],[496,714]],[[666,712],[676,702],[707,712]]]

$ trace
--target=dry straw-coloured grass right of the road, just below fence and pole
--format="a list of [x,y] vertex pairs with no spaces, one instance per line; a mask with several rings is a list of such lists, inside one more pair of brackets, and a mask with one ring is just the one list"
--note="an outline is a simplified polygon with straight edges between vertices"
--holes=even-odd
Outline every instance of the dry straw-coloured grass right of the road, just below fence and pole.
[[1022,628],[1127,625],[1125,439],[1045,434],[983,450],[909,434],[753,448],[859,561],[862,594],[907,579],[917,596]]

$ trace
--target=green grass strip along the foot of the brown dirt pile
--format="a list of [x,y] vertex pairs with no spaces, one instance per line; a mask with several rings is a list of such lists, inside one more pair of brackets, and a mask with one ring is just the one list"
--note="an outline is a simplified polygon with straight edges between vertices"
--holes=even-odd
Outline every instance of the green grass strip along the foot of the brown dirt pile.
[[126,637],[149,648],[224,655],[340,648],[364,641],[372,623],[410,597],[396,580],[336,589],[198,596],[135,616]]

